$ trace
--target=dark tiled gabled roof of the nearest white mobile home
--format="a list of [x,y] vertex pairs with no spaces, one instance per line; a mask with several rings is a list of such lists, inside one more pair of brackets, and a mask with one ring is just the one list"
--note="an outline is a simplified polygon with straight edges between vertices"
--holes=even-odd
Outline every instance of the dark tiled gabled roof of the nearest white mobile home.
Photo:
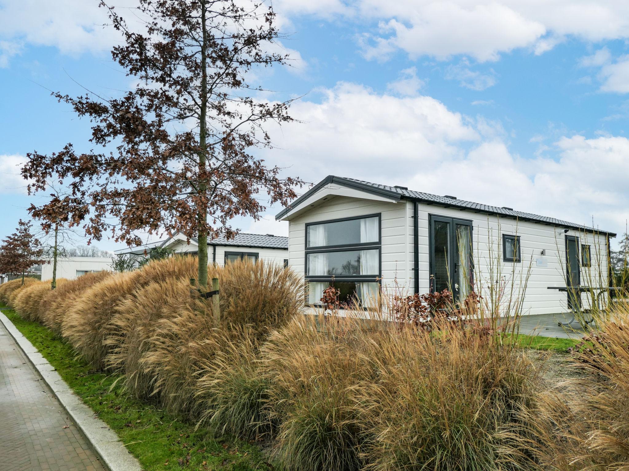
[[296,208],[300,203],[304,202],[308,197],[318,192],[325,185],[330,183],[336,183],[345,187],[355,188],[367,193],[373,193],[379,196],[391,198],[393,200],[411,200],[426,204],[433,204],[442,207],[459,208],[462,210],[469,210],[472,212],[479,212],[484,214],[494,214],[500,217],[508,217],[511,219],[539,222],[541,224],[554,225],[559,227],[566,227],[571,229],[584,230],[586,232],[598,232],[599,234],[607,234],[610,237],[615,237],[614,232],[607,232],[604,230],[594,229],[593,227],[587,227],[582,224],[575,224],[573,222],[567,222],[561,219],[555,219],[554,217],[540,216],[537,214],[515,211],[511,208],[498,207],[485,205],[482,203],[474,203],[471,201],[459,200],[454,197],[431,195],[430,193],[416,192],[414,190],[408,190],[404,187],[389,187],[389,185],[380,185],[378,183],[371,183],[370,181],[356,180],[355,178],[345,178],[342,176],[328,175],[326,178],[317,183],[314,187],[310,188],[308,192],[301,195],[301,197],[294,200],[291,205],[284,208],[279,214],[276,215],[276,219],[281,219],[292,208]]

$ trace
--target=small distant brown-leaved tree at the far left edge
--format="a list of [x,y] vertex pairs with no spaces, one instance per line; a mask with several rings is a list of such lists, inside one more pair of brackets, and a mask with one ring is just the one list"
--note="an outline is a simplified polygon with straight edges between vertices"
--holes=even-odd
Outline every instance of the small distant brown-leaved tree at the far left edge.
[[16,276],[24,274],[34,265],[45,263],[41,259],[42,245],[31,233],[31,222],[19,220],[18,228],[11,236],[3,239],[0,246],[0,273]]

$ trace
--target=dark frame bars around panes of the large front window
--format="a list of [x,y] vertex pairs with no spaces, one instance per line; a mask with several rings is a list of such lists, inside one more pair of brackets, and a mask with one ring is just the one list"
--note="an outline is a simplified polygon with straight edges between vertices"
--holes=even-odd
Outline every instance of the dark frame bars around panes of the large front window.
[[[378,218],[378,241],[377,242],[355,242],[353,244],[337,244],[334,246],[318,246],[308,247],[308,227],[311,225],[328,224],[330,222],[340,222],[355,219],[368,219],[370,217]],[[373,249],[378,251],[378,273],[370,276],[365,275],[308,275],[308,254],[312,253],[330,253],[330,252],[344,252],[350,250],[369,250]],[[382,288],[382,214],[362,214],[352,217],[341,217],[338,219],[326,219],[322,221],[307,222],[304,227],[304,280],[306,283],[311,281],[318,281],[320,283],[342,283],[343,281],[353,281],[355,283],[378,283]],[[308,300],[306,300],[308,305]],[[318,305],[318,303],[315,303]]]

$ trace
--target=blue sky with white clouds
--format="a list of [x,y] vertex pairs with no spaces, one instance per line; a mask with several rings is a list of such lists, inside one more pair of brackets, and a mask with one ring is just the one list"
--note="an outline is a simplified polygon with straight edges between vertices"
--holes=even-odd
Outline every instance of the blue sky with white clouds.
[[[0,0],[0,237],[26,217],[23,156],[89,122],[48,90],[116,95],[97,1]],[[121,0],[120,6],[133,0]],[[303,123],[260,151],[287,175],[334,173],[624,232],[629,6],[557,0],[275,1],[292,67],[259,73]],[[303,191],[303,190],[302,190]],[[286,234],[269,208],[245,232]],[[104,249],[120,244],[95,242]]]

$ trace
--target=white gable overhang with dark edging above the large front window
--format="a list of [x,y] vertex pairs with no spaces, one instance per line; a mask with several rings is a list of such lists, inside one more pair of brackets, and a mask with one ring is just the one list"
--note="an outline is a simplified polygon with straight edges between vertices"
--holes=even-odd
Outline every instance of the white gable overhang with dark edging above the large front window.
[[330,197],[343,196],[396,203],[401,199],[400,195],[382,188],[369,187],[355,181],[345,180],[338,176],[329,175],[310,188],[276,215],[276,220],[286,221],[297,217],[311,208],[321,204]]

